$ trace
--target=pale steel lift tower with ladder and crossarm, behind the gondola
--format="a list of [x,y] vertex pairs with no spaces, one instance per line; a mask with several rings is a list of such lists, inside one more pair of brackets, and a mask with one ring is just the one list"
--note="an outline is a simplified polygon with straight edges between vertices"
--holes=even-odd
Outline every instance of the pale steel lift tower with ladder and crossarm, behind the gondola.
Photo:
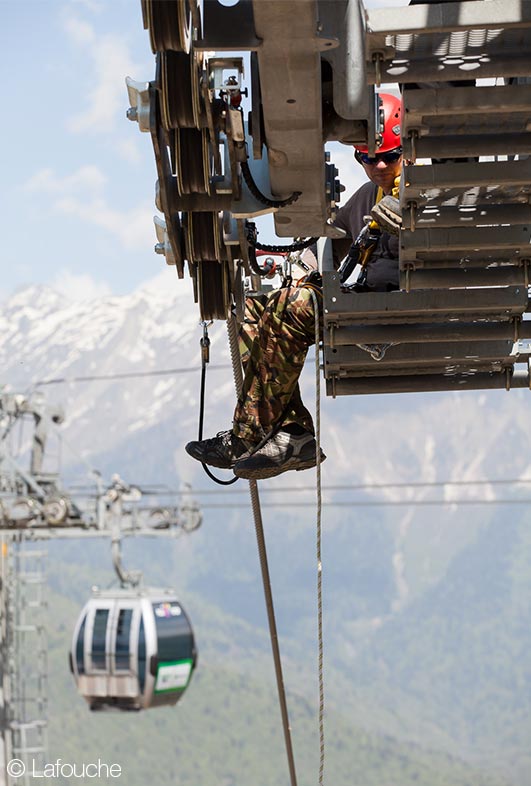
[[[88,490],[63,488],[45,463],[50,429],[62,421],[42,394],[0,393],[0,786],[29,786],[47,761],[47,541],[108,538],[121,583],[134,585],[141,574],[122,565],[123,537],[178,537],[201,524],[186,492],[167,504],[159,489],[146,504],[118,475],[107,485],[96,476]],[[9,771],[15,759],[20,774]]]

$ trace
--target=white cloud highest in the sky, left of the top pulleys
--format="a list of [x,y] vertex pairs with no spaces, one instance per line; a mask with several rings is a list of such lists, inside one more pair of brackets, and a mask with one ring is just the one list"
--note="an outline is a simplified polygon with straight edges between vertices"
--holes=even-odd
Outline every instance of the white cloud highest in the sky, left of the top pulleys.
[[125,36],[96,35],[89,22],[77,17],[69,17],[64,29],[77,47],[86,50],[91,75],[90,84],[84,87],[85,109],[71,117],[67,126],[76,133],[108,134],[125,117],[125,75],[138,73],[140,67],[129,54]]

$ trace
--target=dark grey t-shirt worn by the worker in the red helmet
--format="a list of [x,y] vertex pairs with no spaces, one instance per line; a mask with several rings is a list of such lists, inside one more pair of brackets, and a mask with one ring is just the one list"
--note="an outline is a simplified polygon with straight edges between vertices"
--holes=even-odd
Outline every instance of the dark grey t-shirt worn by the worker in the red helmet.
[[[363,217],[370,215],[377,193],[378,187],[369,181],[337,211],[334,224],[344,229],[353,241],[363,229]],[[367,264],[367,285],[384,292],[389,286],[398,288],[398,238],[388,232],[382,232]]]

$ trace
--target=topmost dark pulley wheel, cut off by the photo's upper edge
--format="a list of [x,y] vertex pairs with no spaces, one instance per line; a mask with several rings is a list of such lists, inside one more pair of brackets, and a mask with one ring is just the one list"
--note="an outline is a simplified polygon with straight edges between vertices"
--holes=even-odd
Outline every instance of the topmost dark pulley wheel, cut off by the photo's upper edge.
[[190,51],[193,20],[189,0],[142,0],[142,16],[153,52]]

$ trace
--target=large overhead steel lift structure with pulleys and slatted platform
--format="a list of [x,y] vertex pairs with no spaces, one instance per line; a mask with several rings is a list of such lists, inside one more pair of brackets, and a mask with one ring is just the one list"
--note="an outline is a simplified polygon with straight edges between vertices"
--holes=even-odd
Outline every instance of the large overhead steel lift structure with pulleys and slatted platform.
[[187,264],[203,318],[241,313],[242,272],[256,272],[253,216],[274,213],[280,237],[337,237],[325,142],[372,153],[376,88],[395,83],[401,289],[345,291],[321,244],[327,392],[529,385],[529,0],[142,7],[157,70],[128,80],[128,114],[153,140],[156,250],[180,276]]

